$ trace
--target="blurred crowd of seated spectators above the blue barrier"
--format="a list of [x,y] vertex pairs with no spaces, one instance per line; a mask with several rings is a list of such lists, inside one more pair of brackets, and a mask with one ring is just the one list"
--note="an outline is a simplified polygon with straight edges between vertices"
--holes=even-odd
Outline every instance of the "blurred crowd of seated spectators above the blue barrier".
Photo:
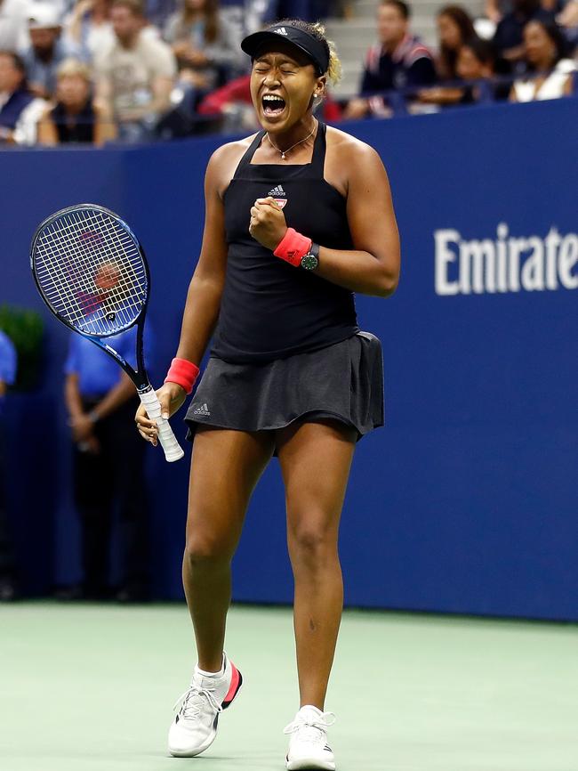
[[[326,120],[574,93],[578,0],[487,0],[437,16],[438,51],[404,0],[376,0],[357,95]],[[331,0],[0,0],[0,143],[142,142],[253,128],[246,34],[284,17],[355,13]]]

